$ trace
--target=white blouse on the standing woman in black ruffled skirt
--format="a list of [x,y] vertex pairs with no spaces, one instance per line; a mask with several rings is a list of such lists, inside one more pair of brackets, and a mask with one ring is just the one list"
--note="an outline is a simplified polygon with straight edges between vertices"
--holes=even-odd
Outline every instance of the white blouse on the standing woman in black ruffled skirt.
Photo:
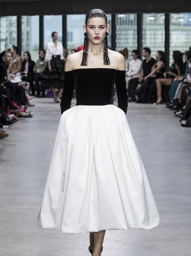
[[63,60],[63,46],[60,42],[57,41],[55,45],[53,41],[47,44],[45,61],[49,61],[52,59],[52,55],[60,55],[61,60]]

